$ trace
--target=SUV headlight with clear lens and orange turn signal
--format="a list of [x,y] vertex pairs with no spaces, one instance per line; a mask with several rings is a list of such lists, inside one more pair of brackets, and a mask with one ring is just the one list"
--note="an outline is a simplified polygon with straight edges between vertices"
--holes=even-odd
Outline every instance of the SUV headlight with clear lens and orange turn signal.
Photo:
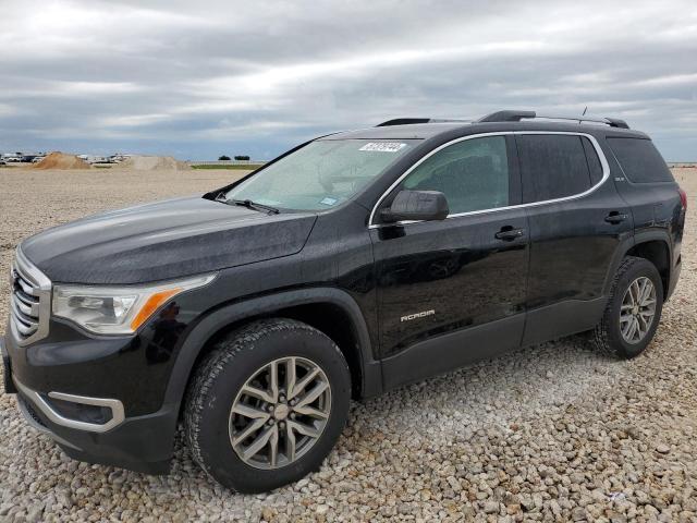
[[203,287],[215,277],[207,275],[138,287],[56,285],[53,316],[70,319],[99,335],[129,335],[164,302],[181,292]]

